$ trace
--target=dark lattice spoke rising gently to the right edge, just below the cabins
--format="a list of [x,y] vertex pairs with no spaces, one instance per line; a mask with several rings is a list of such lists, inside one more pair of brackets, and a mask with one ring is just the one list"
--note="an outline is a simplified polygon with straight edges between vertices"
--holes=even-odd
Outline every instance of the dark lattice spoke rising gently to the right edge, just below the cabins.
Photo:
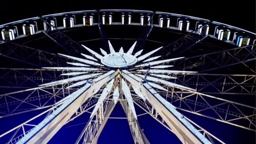
[[242,64],[254,74],[255,71],[246,64],[250,61],[256,61],[255,50],[248,53],[248,49],[251,49],[251,46],[252,45],[248,45],[199,56],[187,57],[176,61],[175,68],[184,70],[195,68],[198,72],[208,72],[215,69]]

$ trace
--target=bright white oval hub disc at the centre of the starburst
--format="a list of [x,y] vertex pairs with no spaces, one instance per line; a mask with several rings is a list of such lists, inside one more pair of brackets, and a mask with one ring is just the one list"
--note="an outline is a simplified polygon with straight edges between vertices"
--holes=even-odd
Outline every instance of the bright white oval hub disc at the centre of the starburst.
[[127,53],[110,53],[101,59],[107,67],[129,67],[137,62],[137,58]]

